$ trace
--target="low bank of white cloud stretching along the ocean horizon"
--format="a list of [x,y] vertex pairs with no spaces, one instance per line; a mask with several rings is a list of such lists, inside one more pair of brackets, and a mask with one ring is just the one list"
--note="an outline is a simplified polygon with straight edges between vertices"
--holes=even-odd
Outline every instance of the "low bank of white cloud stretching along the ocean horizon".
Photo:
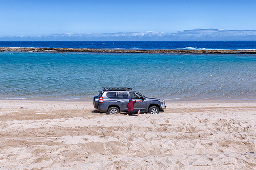
[[48,36],[1,36],[1,40],[256,40],[256,30],[193,29],[176,33],[64,33]]

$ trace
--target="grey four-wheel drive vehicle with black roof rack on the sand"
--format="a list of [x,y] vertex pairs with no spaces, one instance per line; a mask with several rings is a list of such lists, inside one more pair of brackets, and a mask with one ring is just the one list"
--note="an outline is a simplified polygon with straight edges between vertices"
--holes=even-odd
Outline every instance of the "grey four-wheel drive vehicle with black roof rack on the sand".
[[106,114],[128,113],[129,99],[141,100],[135,108],[141,113],[159,113],[166,108],[165,101],[154,98],[146,98],[142,94],[131,91],[128,87],[102,87],[99,95],[93,98],[93,106],[96,111]]

